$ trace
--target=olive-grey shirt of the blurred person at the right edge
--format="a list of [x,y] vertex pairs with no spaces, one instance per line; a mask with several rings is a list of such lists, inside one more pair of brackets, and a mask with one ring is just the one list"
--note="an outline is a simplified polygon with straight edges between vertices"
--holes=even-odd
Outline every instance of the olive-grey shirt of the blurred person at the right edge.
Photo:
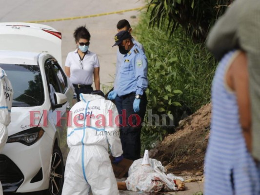
[[234,48],[246,52],[252,117],[252,154],[260,160],[260,0],[232,1],[231,6],[211,29],[206,45],[218,59]]

